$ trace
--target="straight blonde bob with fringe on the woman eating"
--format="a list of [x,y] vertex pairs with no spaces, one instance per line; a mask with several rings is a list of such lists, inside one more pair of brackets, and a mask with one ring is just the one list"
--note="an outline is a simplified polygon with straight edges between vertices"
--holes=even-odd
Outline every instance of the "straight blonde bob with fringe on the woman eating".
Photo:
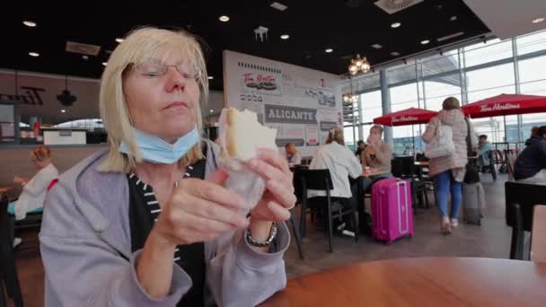
[[[127,38],[114,49],[108,65],[101,76],[99,107],[104,127],[108,131],[110,152],[101,164],[99,171],[123,171],[135,169],[142,162],[142,154],[137,147],[134,127],[131,125],[127,101],[123,94],[123,79],[128,67],[153,59],[163,59],[169,52],[179,52],[196,66],[200,74],[199,107],[196,108],[197,128],[201,131],[201,108],[208,100],[207,67],[198,39],[186,31],[169,31],[145,27],[128,34]],[[119,153],[121,143],[128,145],[131,154]],[[198,142],[189,153],[181,158],[182,166],[196,162],[203,157]]]

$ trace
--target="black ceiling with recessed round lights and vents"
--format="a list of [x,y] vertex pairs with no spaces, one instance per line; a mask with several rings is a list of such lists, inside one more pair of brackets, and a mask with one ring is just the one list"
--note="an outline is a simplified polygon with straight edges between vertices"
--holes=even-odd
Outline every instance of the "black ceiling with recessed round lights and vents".
[[[4,6],[0,20],[0,29],[9,30],[0,48],[0,67],[99,78],[101,63],[108,59],[107,50],[116,47],[116,38],[137,26],[155,25],[183,28],[204,39],[210,48],[208,73],[215,77],[211,88],[220,90],[224,49],[341,75],[347,72],[348,58],[357,53],[374,66],[397,58],[392,51],[406,57],[489,32],[462,0],[425,0],[394,14],[384,13],[374,1],[277,0],[288,6],[284,12],[270,7],[271,0],[111,1],[108,5],[72,1],[62,7],[48,1],[13,2],[12,8]],[[220,15],[228,15],[230,21],[220,22]],[[23,20],[38,26],[26,27]],[[401,27],[392,29],[392,22],[401,22]],[[253,32],[260,25],[269,28],[264,42],[256,40]],[[464,35],[436,41],[459,31]],[[284,33],[290,39],[280,39]],[[430,43],[421,45],[423,39]],[[66,40],[100,45],[101,53],[84,60],[65,51]],[[383,48],[372,48],[376,43]],[[325,53],[326,48],[334,51]],[[31,51],[40,57],[30,57]]]

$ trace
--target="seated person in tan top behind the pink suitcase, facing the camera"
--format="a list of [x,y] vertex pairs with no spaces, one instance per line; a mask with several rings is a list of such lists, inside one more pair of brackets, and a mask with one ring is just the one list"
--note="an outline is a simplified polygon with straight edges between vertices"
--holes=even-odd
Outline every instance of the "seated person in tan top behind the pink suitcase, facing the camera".
[[383,174],[365,177],[362,180],[362,188],[365,192],[370,189],[375,181],[392,177],[392,151],[388,144],[383,143],[382,135],[383,127],[379,125],[372,126],[370,128],[370,136],[368,136],[366,141],[368,146],[365,148],[364,153],[362,153],[363,168],[369,167],[372,172],[385,171]]

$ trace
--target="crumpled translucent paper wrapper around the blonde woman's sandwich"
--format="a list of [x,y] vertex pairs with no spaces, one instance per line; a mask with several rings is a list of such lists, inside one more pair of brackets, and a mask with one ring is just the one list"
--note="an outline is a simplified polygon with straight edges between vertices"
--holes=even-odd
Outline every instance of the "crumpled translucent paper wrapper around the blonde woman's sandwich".
[[[227,111],[227,109],[222,110],[219,119],[219,141],[222,147],[219,166],[229,176],[225,182],[225,188],[243,197],[248,206],[247,209],[250,211],[254,206],[258,205],[266,189],[266,184],[260,175],[251,171],[246,165],[246,162],[249,162],[251,158],[258,156],[256,148],[253,151],[243,153],[240,157],[230,156],[227,150]],[[275,149],[277,150],[277,146]]]

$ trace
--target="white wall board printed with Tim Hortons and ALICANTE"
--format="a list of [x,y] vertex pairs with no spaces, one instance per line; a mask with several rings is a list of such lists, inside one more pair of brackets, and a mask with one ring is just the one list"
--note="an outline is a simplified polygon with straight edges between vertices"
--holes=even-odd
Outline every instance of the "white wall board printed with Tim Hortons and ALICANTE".
[[277,145],[294,143],[304,156],[343,126],[340,77],[261,57],[224,51],[225,105],[258,113],[277,128]]

